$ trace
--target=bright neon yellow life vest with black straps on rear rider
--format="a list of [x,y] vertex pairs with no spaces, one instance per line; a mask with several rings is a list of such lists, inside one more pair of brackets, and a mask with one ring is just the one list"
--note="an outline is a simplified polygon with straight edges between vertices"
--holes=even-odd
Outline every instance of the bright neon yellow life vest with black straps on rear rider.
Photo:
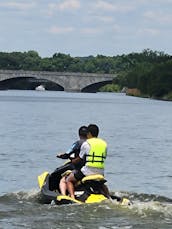
[[86,157],[86,166],[99,169],[104,168],[104,160],[107,154],[107,144],[100,138],[90,138],[87,140],[90,145],[90,152]]

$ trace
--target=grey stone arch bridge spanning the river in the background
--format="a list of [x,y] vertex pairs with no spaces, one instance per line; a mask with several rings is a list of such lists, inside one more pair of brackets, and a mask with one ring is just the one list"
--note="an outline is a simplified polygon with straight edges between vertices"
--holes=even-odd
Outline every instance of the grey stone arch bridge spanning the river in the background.
[[115,74],[0,70],[0,83],[10,79],[33,78],[51,81],[64,91],[96,92],[101,86],[112,83],[116,76]]

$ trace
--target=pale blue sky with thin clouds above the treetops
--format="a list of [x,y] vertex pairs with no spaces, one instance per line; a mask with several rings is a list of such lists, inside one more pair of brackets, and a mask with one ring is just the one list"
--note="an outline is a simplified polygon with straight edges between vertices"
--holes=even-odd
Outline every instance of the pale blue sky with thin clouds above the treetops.
[[0,0],[0,52],[172,55],[172,0]]

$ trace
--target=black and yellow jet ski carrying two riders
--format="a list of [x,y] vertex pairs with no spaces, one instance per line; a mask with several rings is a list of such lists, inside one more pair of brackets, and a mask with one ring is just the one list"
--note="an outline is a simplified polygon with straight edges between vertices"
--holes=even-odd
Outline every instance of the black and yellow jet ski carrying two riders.
[[119,205],[131,205],[131,201],[125,197],[115,195],[106,196],[103,191],[103,185],[106,180],[103,175],[89,175],[84,177],[75,187],[75,199],[68,195],[61,195],[59,190],[60,179],[67,173],[74,169],[74,165],[69,162],[59,168],[53,173],[48,171],[43,172],[38,176],[38,185],[40,188],[40,201],[43,204],[90,204],[100,203],[110,199]]

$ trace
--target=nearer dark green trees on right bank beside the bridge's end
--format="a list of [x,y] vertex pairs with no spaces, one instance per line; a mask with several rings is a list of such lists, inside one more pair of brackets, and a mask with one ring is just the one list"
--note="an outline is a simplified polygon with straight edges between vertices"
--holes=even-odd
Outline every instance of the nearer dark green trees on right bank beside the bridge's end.
[[116,83],[137,88],[144,97],[172,100],[171,56],[151,50],[145,50],[142,54],[144,58],[121,72]]

